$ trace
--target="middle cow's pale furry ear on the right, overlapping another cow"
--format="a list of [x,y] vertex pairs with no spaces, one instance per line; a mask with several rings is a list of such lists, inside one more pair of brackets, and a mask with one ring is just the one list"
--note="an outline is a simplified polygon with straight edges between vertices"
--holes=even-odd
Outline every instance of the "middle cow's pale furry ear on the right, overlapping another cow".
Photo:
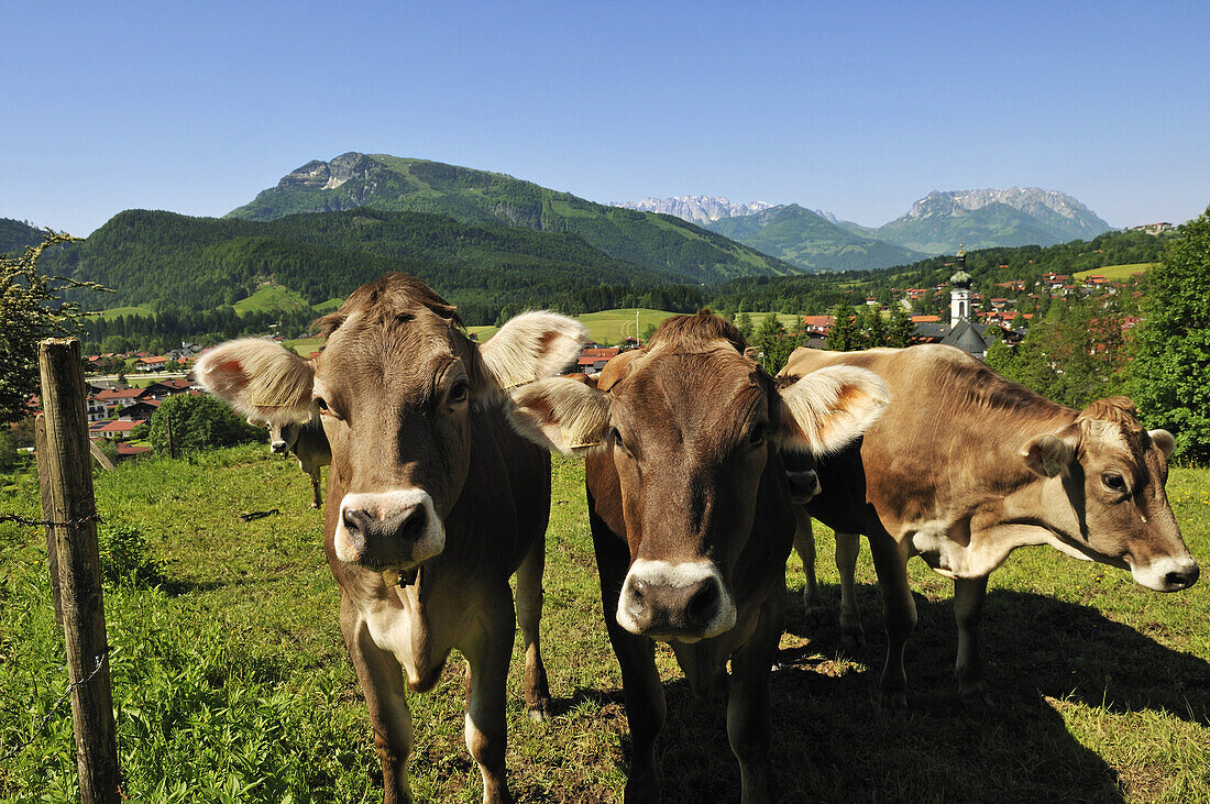
[[812,371],[779,393],[779,446],[813,455],[843,449],[878,421],[891,401],[887,383],[855,366]]

